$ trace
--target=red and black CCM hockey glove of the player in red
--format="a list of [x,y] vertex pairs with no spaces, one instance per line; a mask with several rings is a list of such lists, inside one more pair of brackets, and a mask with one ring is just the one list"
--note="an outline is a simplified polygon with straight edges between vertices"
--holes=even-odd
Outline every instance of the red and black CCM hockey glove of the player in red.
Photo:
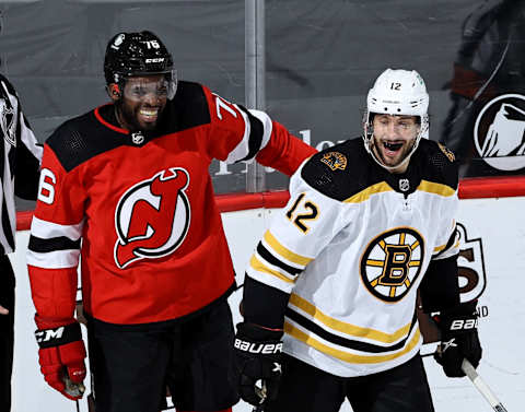
[[[37,317],[38,318],[38,317]],[[85,378],[85,346],[82,341],[80,323],[57,325],[37,319],[35,332],[38,350],[38,363],[47,384],[66,398],[82,398]]]

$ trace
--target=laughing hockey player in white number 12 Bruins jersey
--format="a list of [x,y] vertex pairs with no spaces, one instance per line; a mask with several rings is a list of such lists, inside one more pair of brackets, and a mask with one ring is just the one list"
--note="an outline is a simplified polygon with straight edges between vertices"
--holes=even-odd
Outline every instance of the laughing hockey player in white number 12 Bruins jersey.
[[265,412],[336,412],[346,398],[354,412],[433,411],[418,289],[439,313],[445,374],[481,357],[476,303],[459,299],[457,164],[425,139],[424,82],[387,69],[366,106],[363,139],[293,175],[246,271],[233,378]]

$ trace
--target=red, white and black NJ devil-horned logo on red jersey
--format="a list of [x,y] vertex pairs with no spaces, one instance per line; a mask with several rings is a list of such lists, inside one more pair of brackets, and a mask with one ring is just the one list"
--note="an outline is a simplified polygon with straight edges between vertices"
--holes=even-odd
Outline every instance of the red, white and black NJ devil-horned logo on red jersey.
[[114,256],[120,269],[137,260],[167,256],[180,246],[190,221],[184,192],[188,184],[184,168],[171,167],[124,193],[115,212],[118,240]]

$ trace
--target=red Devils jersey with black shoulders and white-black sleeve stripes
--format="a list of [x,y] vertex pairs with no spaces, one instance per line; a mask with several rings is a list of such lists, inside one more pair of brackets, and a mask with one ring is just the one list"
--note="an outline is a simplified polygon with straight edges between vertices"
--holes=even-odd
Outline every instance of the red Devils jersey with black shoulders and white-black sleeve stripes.
[[314,149],[257,110],[179,82],[158,131],[128,132],[113,105],[46,141],[27,263],[42,318],[71,318],[81,262],[84,310],[112,323],[177,319],[234,285],[208,172],[255,156],[291,174]]

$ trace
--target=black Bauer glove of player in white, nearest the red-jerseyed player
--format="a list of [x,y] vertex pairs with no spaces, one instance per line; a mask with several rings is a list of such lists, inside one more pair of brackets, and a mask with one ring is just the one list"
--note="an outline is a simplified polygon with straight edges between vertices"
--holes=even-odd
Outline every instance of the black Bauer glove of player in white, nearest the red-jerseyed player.
[[254,323],[237,325],[234,343],[233,384],[241,398],[253,405],[275,400],[281,378],[282,331]]

